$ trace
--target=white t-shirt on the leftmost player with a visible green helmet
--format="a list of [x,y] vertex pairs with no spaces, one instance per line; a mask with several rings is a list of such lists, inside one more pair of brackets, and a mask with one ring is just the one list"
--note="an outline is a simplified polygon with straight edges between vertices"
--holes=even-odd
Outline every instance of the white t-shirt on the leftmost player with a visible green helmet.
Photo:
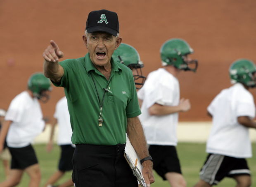
[[45,127],[38,99],[32,98],[27,91],[12,99],[5,120],[12,121],[6,141],[13,148],[29,145]]

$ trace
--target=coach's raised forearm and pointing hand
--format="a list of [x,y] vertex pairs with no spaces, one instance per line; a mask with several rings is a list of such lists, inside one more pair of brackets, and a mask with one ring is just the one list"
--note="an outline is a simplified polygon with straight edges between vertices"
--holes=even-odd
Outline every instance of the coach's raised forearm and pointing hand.
[[58,83],[64,74],[63,67],[59,65],[59,58],[62,58],[63,55],[64,53],[59,50],[59,46],[53,40],[50,41],[50,45],[43,52],[43,58],[45,59],[44,74],[55,83]]

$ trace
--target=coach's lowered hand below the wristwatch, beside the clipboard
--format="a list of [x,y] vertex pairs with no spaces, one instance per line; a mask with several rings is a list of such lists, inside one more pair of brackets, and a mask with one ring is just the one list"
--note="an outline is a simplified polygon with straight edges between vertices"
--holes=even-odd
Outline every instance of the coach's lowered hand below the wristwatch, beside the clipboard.
[[153,176],[153,162],[151,160],[147,160],[142,163],[142,175],[145,179],[145,182],[147,184],[147,187],[150,187],[150,184],[155,182],[154,176]]

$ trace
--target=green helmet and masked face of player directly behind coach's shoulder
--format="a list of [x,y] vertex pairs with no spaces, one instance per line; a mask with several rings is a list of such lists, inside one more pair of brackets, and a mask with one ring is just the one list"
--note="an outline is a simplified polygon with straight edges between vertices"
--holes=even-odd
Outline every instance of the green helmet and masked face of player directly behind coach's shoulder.
[[128,44],[121,43],[114,51],[112,58],[116,62],[120,62],[133,71],[134,82],[137,89],[142,88],[146,77],[142,75],[143,62],[140,60],[140,55],[137,50]]

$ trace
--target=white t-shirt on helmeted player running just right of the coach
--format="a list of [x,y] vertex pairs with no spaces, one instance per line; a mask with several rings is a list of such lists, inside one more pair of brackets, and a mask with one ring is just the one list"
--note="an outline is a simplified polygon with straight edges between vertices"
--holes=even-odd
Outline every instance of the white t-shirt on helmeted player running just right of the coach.
[[139,116],[143,125],[147,143],[150,145],[177,145],[178,113],[169,115],[149,115],[148,109],[155,103],[177,106],[180,101],[178,79],[163,68],[151,72],[143,87],[137,92],[143,100],[142,114]]

